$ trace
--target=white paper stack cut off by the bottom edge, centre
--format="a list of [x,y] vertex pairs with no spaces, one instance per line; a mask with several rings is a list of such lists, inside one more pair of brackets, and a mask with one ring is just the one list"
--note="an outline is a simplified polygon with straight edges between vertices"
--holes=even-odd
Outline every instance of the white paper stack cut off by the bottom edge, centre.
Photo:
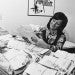
[[53,69],[48,69],[38,63],[33,62],[27,67],[23,75],[25,73],[28,73],[30,75],[56,75],[57,71]]

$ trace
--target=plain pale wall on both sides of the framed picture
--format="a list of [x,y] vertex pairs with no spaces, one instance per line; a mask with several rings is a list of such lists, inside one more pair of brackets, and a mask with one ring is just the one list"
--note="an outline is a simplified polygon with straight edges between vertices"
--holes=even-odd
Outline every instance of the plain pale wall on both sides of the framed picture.
[[[55,12],[64,12],[69,22],[65,28],[70,41],[75,42],[74,0],[55,0]],[[0,0],[0,26],[12,34],[17,34],[17,27],[26,24],[46,25],[49,17],[27,16],[28,0]]]

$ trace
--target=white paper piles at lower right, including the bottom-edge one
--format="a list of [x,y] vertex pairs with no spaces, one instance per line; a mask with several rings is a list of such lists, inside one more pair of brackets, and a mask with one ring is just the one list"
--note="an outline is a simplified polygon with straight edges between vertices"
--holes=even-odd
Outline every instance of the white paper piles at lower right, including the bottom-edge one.
[[75,54],[58,50],[44,56],[38,63],[31,63],[23,75],[70,75],[75,67]]

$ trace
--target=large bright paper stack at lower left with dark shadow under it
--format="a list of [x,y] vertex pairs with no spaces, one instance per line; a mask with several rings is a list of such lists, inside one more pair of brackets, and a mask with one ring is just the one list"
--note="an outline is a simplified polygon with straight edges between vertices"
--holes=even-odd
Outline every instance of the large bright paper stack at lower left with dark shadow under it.
[[14,49],[9,49],[3,56],[8,60],[14,70],[26,65],[30,61],[27,53]]

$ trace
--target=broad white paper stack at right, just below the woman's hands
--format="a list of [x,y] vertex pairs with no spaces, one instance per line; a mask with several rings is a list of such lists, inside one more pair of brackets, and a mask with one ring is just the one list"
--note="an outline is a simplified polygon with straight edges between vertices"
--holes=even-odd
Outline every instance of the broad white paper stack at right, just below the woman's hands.
[[58,50],[53,55],[44,56],[38,63],[55,70],[66,72],[73,68],[75,55]]

